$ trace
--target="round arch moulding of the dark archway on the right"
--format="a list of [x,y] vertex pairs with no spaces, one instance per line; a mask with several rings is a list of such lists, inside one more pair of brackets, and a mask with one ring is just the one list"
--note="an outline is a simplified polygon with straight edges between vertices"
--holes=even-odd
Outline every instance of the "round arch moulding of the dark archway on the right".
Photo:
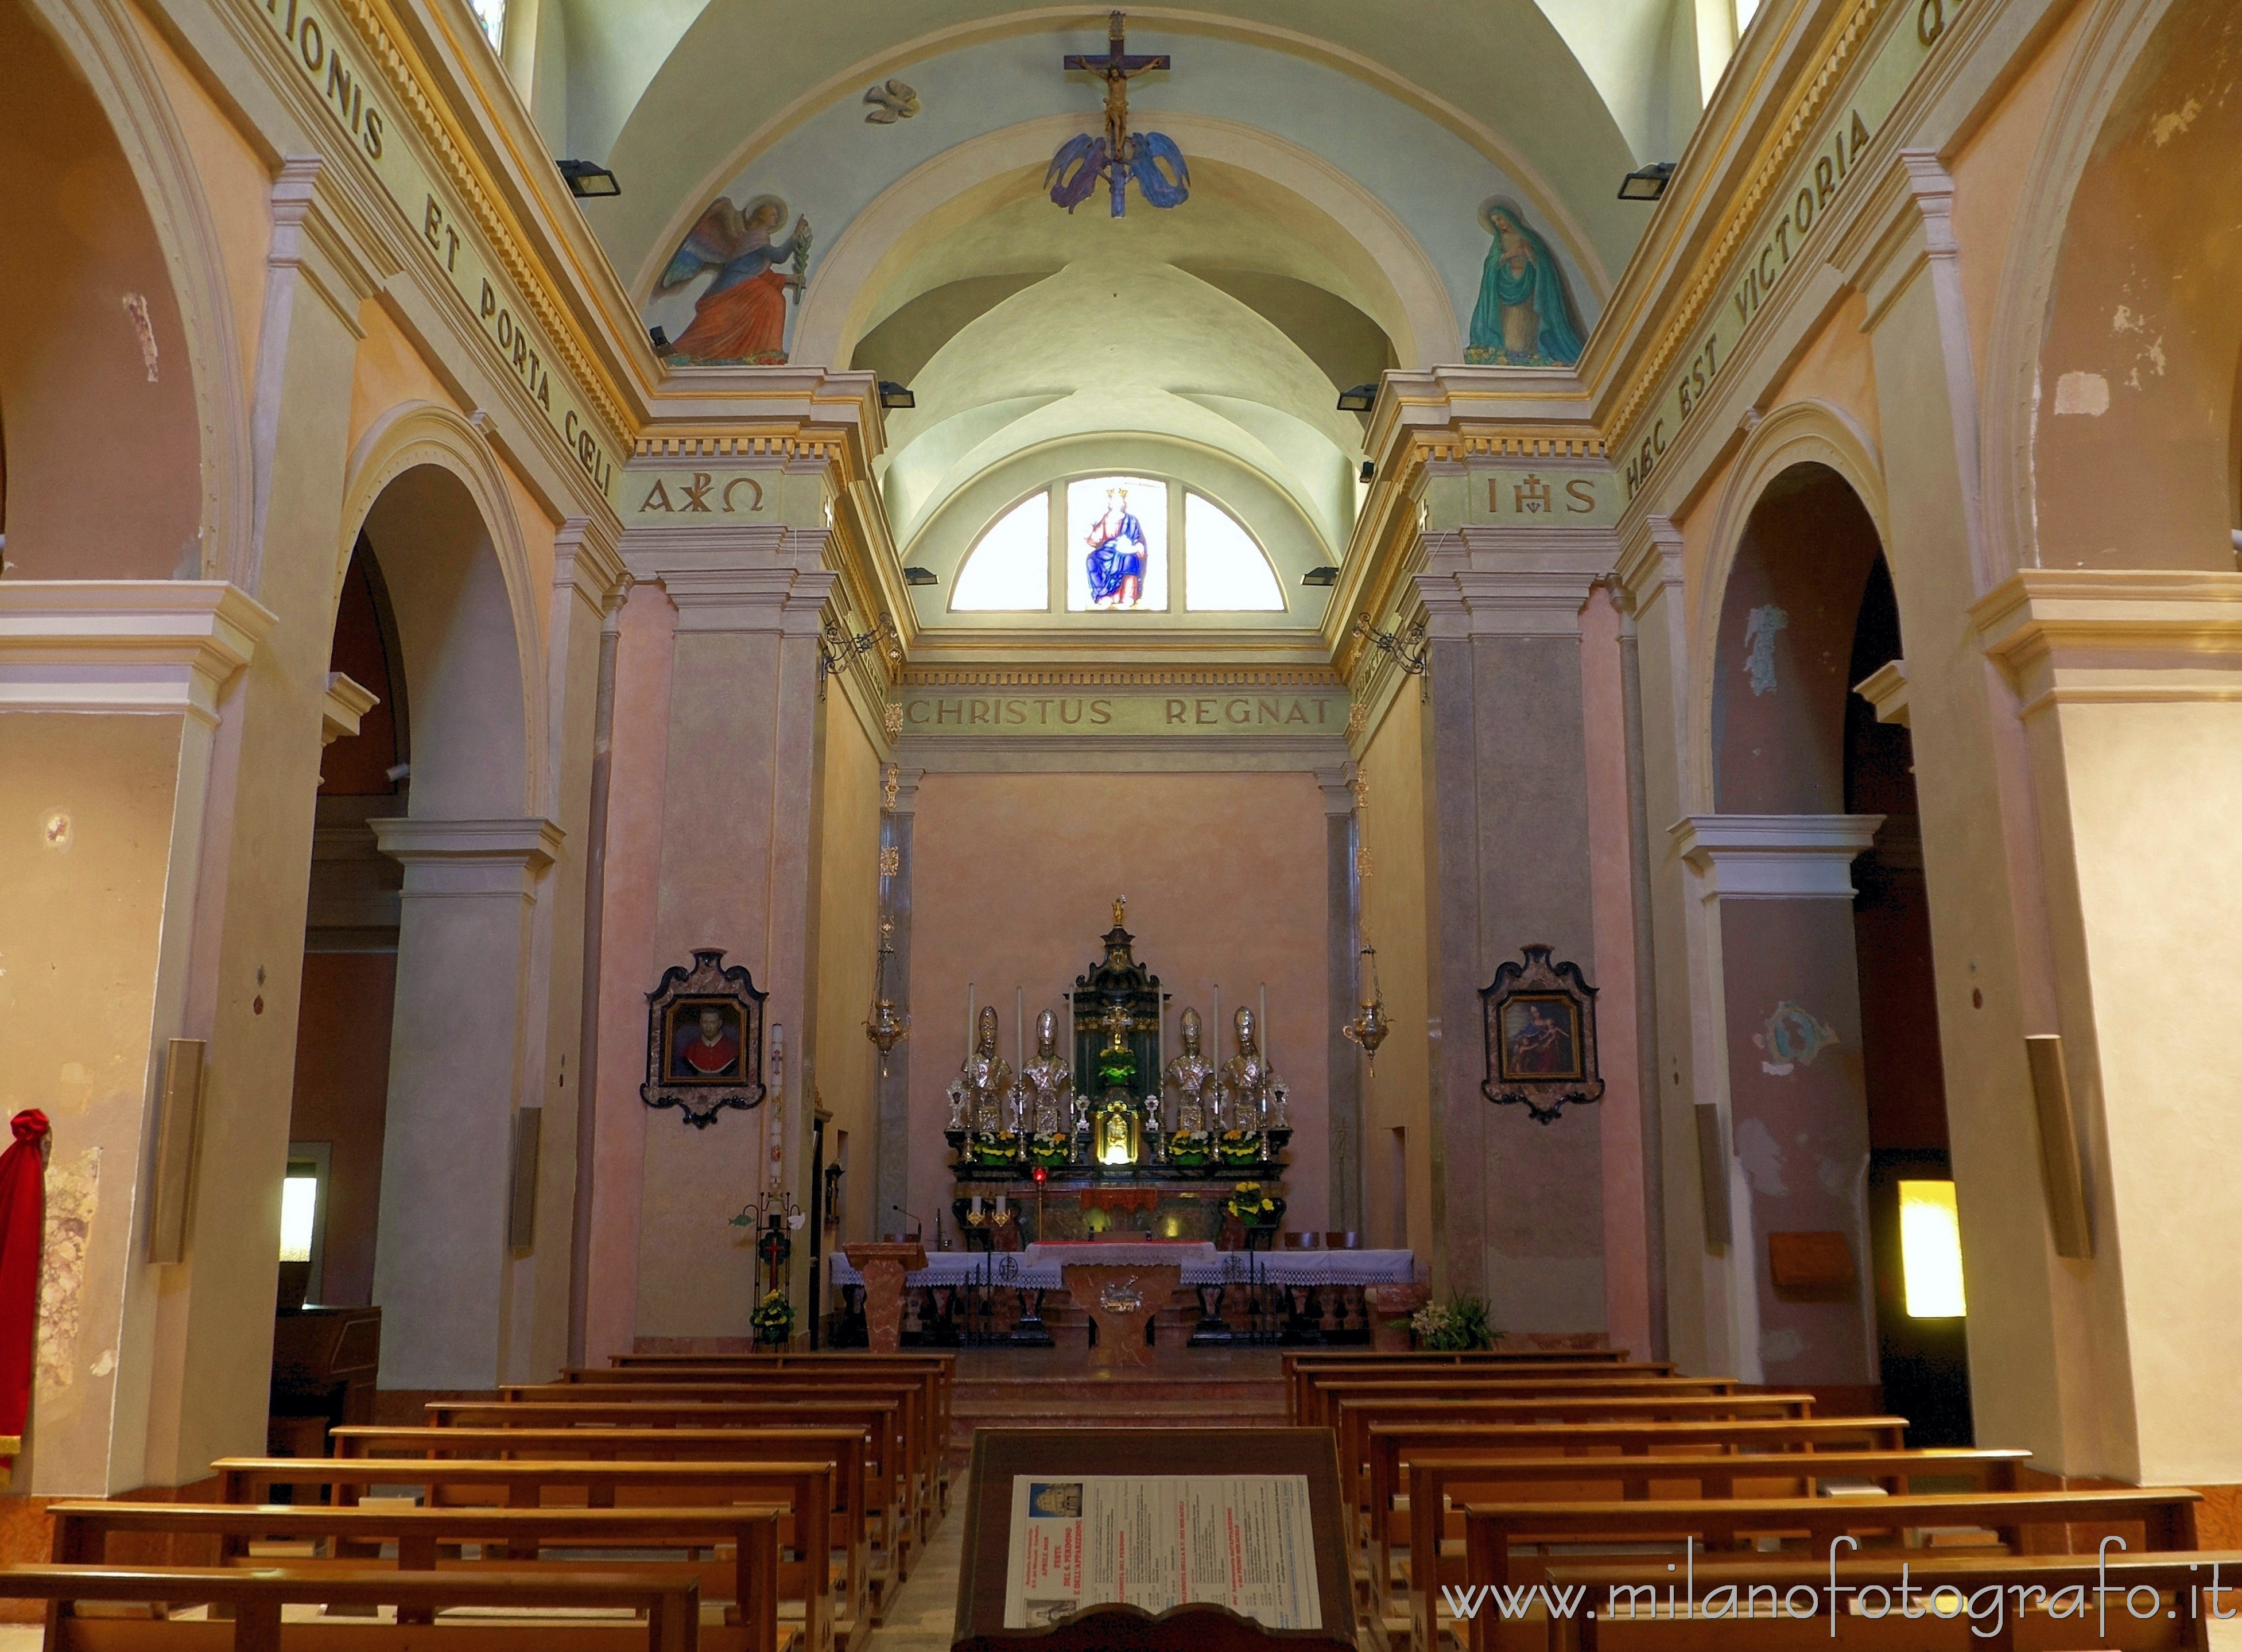
[[[1818,464],[1834,471],[1852,489],[1877,531],[1879,545],[1890,545],[1890,511],[1883,491],[1883,460],[1868,433],[1829,401],[1787,401],[1753,426],[1738,451],[1713,516],[1713,540],[1699,572],[1697,603],[1690,616],[1690,758],[1684,814],[1715,811],[1717,749],[1713,737],[1715,693],[1720,684],[1720,628],[1729,607],[1729,583],[1744,547],[1744,531],[1769,484],[1785,471]],[[1897,574],[1894,574],[1897,578]]]

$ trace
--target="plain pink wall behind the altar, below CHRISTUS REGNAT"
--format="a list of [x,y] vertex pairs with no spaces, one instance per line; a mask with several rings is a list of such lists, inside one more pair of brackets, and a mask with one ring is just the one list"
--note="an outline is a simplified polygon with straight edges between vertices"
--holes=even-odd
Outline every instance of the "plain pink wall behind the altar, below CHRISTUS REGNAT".
[[[1325,816],[1309,773],[930,773],[912,838],[910,1208],[951,1199],[942,1092],[966,1054],[966,982],[1004,1015],[1040,1009],[1099,957],[1128,897],[1137,962],[1175,1015],[1224,1018],[1269,984],[1271,1056],[1291,1085],[1289,1228],[1330,1226]],[[1224,1038],[1222,1054],[1231,1042]],[[944,1217],[946,1222],[946,1217]]]

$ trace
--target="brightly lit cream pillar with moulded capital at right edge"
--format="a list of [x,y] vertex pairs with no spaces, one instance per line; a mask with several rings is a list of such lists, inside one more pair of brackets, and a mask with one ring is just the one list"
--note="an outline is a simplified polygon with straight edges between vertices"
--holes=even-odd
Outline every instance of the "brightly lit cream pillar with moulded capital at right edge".
[[[2047,1453],[2069,1473],[2141,1484],[2242,1479],[2242,1419],[2229,1394],[2242,1334],[2226,1307],[2242,1260],[2222,1235],[2242,1217],[2233,984],[2242,975],[2242,574],[2025,569],[1973,619],[2022,702],[2054,910],[2069,1096],[2078,1121],[2094,1255],[2063,1260],[2103,1338],[2105,1410],[2094,1432]],[[1921,733],[1915,655],[1908,715]],[[1926,850],[1930,820],[1926,809]],[[1933,897],[1937,861],[1930,861]],[[1933,908],[1937,917],[1937,908]],[[1948,986],[1964,1013],[1980,989]],[[1948,1085],[1953,1080],[1948,1078]],[[1957,1134],[1975,1098],[1948,1089]],[[1980,1437],[1993,1383],[1980,1363],[1977,1255],[1984,1226],[2054,1251],[2038,1132],[2011,1154],[2029,1190],[1973,1210],[1957,1177]],[[1984,1226],[1973,1226],[1984,1224]],[[1998,1231],[1998,1228],[1995,1228]]]

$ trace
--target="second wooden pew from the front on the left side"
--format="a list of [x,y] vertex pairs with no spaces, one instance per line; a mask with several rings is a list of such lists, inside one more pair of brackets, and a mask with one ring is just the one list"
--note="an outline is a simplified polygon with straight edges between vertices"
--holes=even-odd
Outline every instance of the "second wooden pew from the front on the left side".
[[[251,1556],[253,1542],[309,1542],[325,1544],[330,1556],[287,1558],[289,1571],[348,1576],[379,1565],[381,1544],[397,1547],[392,1562],[401,1571],[491,1571],[518,1562],[536,1562],[538,1569],[556,1571],[643,1571],[659,1576],[691,1578],[702,1591],[702,1600],[729,1603],[724,1627],[702,1630],[706,1652],[782,1652],[794,1645],[794,1630],[785,1639],[778,1630],[778,1522],[785,1511],[776,1506],[724,1506],[724,1509],[323,1509],[294,1504],[177,1504],[177,1502],[58,1502],[49,1504],[54,1520],[54,1562],[74,1567],[105,1567],[110,1560],[110,1538],[128,1535],[188,1535],[211,1538],[220,1549],[220,1565],[269,1567],[269,1556]],[[507,1549],[504,1562],[444,1560],[439,1549],[462,1542]],[[650,1565],[646,1560],[583,1562],[578,1558],[552,1560],[540,1549],[679,1549],[691,1556],[697,1549],[731,1544],[731,1562],[702,1565],[695,1560]],[[202,1596],[177,1598],[175,1605]],[[430,1612],[417,1605],[399,1605],[404,1621],[430,1621]],[[58,1616],[49,1612],[49,1645],[56,1643]]]

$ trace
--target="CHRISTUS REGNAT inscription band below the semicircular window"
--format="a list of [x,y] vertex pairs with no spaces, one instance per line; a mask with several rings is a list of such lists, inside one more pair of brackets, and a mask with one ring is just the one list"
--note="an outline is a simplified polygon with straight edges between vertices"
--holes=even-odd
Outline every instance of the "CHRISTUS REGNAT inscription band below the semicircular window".
[[1318,690],[986,693],[906,688],[904,735],[1321,735],[1347,731],[1347,695]]

